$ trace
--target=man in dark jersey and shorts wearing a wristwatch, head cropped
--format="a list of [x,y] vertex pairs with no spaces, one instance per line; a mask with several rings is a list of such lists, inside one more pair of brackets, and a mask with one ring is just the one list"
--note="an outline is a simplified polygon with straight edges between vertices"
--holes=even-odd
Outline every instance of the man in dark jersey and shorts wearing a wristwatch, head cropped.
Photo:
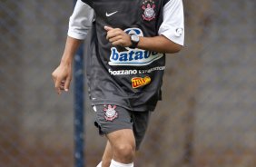
[[182,0],[78,0],[53,73],[57,93],[68,91],[74,54],[89,30],[86,77],[95,125],[107,138],[98,167],[133,167],[161,100],[165,54],[182,49]]

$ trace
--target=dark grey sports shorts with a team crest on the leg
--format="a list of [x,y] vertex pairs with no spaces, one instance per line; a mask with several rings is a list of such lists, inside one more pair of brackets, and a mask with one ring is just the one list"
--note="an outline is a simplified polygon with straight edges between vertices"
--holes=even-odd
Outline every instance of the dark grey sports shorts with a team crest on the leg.
[[94,123],[101,135],[122,129],[132,129],[136,150],[139,149],[148,127],[150,111],[134,112],[111,104],[94,105],[93,108],[96,113]]

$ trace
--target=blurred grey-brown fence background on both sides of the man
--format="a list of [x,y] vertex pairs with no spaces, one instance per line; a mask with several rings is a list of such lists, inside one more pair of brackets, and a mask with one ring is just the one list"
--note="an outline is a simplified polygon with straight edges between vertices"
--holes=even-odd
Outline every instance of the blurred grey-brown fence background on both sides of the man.
[[[256,166],[256,1],[183,0],[186,42],[138,167]],[[74,92],[54,92],[73,1],[0,1],[0,166],[74,166]],[[86,78],[85,78],[86,80]],[[74,85],[74,84],[73,84]],[[86,85],[85,89],[86,89]],[[86,166],[104,138],[86,95]]]

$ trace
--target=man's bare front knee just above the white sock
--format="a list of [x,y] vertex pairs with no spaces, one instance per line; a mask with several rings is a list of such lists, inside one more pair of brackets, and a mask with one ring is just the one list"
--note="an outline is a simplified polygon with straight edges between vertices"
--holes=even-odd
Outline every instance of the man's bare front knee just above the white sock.
[[133,160],[135,154],[135,145],[123,143],[114,147],[114,155],[120,157],[123,160]]

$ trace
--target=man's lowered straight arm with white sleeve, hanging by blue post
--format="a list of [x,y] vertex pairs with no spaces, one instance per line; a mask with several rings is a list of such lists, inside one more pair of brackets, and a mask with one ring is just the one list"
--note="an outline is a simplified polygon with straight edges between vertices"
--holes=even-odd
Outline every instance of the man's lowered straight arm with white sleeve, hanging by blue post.
[[56,92],[68,91],[72,80],[74,54],[92,27],[94,10],[78,0],[69,20],[69,30],[60,65],[53,72]]

